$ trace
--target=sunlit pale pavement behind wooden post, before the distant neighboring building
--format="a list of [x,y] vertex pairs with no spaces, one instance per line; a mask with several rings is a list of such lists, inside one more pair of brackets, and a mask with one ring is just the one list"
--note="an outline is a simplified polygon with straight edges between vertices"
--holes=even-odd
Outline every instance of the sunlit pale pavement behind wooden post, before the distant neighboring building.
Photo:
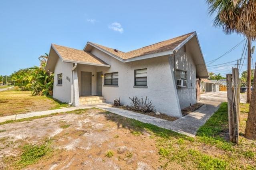
[[[206,92],[201,93],[201,100],[228,102],[227,92]],[[246,94],[240,94],[240,102],[246,103]]]

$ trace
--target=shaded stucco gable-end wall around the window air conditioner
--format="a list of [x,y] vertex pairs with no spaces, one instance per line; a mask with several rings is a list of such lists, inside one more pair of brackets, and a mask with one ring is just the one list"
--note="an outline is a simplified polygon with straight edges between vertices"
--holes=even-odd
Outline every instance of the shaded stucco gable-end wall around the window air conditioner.
[[196,103],[196,65],[191,55],[187,46],[186,52],[184,52],[184,48],[181,47],[179,51],[170,58],[173,74],[175,69],[187,72],[187,87],[177,87],[181,109]]

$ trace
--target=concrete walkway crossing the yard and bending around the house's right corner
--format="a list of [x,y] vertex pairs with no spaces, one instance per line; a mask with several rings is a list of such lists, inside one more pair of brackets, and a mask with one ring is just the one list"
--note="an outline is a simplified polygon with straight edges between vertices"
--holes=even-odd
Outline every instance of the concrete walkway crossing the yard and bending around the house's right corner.
[[145,114],[139,114],[129,110],[115,108],[107,103],[88,104],[88,105],[83,105],[78,107],[62,108],[62,109],[56,109],[56,110],[47,110],[47,111],[41,111],[41,112],[31,112],[31,113],[17,114],[12,116],[5,116],[5,117],[0,117],[0,122],[4,122],[6,120],[29,118],[33,116],[42,116],[42,115],[48,115],[52,113],[69,112],[77,109],[95,107],[95,108],[109,111],[127,118],[132,118],[140,122],[149,123],[161,128],[173,130],[181,134],[186,134],[188,136],[195,136],[198,128],[204,125],[205,122],[210,118],[210,116],[212,116],[212,114],[214,114],[214,112],[218,110],[219,104],[221,103],[219,101],[209,101],[209,100],[201,100],[200,102],[205,103],[204,106],[202,106],[195,112],[187,114],[186,116],[183,116],[182,118],[179,118],[173,122],[168,120],[163,120],[160,118],[155,118]]

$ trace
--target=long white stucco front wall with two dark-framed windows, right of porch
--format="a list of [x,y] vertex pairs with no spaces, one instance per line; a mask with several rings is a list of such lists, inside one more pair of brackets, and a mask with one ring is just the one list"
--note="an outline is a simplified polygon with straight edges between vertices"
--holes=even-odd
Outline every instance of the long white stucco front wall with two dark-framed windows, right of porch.
[[[170,56],[122,63],[95,48],[91,53],[111,65],[110,68],[79,65],[79,77],[81,70],[92,70],[92,74],[95,75],[92,77],[92,94],[96,94],[96,72],[103,71],[103,74],[118,72],[118,87],[103,86],[102,93],[107,102],[113,103],[115,98],[120,97],[122,104],[129,105],[131,103],[129,97],[137,96],[141,98],[143,96],[145,98],[147,96],[152,100],[157,111],[167,115],[181,117],[177,91],[173,82],[173,72],[169,64]],[[148,88],[134,88],[134,70],[143,68],[147,68]]]

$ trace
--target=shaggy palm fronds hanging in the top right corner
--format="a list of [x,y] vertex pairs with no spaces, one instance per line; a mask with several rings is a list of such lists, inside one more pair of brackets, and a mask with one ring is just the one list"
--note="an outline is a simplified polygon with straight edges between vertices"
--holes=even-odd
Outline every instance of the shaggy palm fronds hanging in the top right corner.
[[238,33],[256,39],[256,0],[207,0],[214,25],[226,34]]

